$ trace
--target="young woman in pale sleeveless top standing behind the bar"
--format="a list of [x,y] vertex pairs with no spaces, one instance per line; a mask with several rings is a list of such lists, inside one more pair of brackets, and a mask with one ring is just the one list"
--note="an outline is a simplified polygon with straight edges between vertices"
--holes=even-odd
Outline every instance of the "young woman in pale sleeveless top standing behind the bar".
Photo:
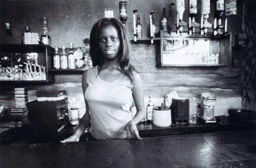
[[[102,18],[95,23],[90,35],[94,67],[82,76],[87,112],[75,132],[62,143],[78,141],[90,124],[95,139],[141,139],[136,124],[145,112],[143,84],[129,63],[130,48],[129,35],[118,19]],[[133,118],[132,101],[137,109]]]

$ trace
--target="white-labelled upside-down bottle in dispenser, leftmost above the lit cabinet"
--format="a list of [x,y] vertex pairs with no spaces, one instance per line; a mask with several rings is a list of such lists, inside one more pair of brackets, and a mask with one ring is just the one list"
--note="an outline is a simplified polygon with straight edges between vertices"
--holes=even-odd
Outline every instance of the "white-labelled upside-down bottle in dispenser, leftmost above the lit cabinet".
[[177,34],[182,34],[183,27],[187,26],[187,23],[183,20],[183,13],[185,11],[184,0],[176,0],[176,11],[177,11]]

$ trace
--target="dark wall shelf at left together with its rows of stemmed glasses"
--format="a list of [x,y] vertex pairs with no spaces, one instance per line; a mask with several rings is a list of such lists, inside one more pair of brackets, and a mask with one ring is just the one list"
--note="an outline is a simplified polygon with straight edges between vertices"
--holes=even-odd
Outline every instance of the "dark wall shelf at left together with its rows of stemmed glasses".
[[43,44],[0,44],[0,81],[15,83],[54,82],[54,49]]

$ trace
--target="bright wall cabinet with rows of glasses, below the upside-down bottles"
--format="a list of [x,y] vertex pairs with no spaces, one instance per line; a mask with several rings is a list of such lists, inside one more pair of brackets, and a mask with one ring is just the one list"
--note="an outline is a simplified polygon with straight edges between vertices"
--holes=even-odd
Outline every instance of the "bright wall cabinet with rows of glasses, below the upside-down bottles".
[[232,35],[168,34],[161,31],[157,66],[230,66]]

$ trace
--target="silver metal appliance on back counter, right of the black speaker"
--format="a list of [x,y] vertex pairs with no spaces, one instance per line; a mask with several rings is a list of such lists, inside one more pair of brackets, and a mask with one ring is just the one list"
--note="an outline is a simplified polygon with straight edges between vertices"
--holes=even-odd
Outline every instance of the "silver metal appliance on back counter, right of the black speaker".
[[199,119],[207,123],[216,123],[216,117],[214,116],[214,106],[216,103],[216,95],[212,93],[201,94],[201,108],[199,111]]

